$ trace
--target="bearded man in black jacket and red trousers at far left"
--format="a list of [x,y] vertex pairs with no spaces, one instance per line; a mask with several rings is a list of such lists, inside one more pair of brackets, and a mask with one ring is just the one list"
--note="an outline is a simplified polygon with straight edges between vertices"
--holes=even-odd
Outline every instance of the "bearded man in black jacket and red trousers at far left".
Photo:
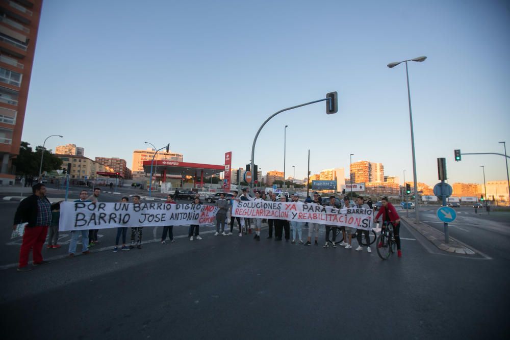
[[14,215],[14,227],[20,223],[28,223],[23,233],[23,242],[19,251],[19,272],[32,270],[28,267],[30,250],[33,250],[33,266],[46,265],[49,261],[42,259],[42,246],[46,240],[48,226],[52,222],[51,203],[46,198],[46,187],[38,183],[32,187],[32,196],[22,200]]

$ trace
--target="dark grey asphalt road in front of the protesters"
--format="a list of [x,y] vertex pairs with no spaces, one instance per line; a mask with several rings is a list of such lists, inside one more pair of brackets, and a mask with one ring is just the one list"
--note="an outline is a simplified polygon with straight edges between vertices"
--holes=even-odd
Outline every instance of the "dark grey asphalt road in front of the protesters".
[[[16,204],[0,204],[9,234]],[[5,339],[508,338],[508,236],[464,226],[473,234],[464,242],[480,241],[475,229],[487,238],[473,246],[489,258],[439,252],[406,226],[403,257],[386,261],[374,247],[292,245],[265,239],[267,229],[260,242],[213,237],[203,227],[202,241],[118,253],[105,233],[104,250],[18,273],[5,265],[19,246],[6,245],[0,329]]]

